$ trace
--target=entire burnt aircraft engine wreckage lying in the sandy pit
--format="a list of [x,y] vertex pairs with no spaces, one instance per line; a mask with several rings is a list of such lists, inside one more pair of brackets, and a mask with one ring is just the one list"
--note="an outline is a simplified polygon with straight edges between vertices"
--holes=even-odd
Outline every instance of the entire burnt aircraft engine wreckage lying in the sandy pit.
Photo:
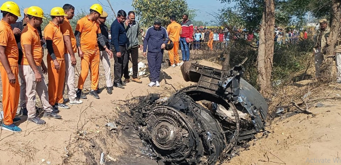
[[140,97],[130,110],[159,165],[214,165],[264,131],[268,104],[241,78],[241,65],[222,71],[186,62],[181,72],[185,81],[197,84],[161,102],[158,94]]

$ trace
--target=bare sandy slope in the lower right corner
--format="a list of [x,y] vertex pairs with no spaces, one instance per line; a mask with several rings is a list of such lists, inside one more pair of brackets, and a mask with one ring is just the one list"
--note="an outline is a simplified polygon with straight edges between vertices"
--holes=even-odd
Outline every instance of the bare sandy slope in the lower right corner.
[[341,103],[323,104],[331,107],[312,109],[314,117],[297,114],[273,121],[268,138],[251,142],[249,150],[224,165],[341,164]]

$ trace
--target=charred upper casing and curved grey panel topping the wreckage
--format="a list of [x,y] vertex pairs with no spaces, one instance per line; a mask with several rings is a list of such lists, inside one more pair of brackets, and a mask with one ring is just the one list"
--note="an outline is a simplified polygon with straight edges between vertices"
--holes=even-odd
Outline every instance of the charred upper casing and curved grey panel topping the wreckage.
[[[212,67],[186,62],[181,66],[183,78],[186,81],[197,82],[197,84],[190,90],[180,90],[179,93],[204,92],[206,96],[202,98],[205,100],[207,97],[221,97],[236,106],[240,104],[250,114],[255,129],[262,130],[266,121],[268,105],[263,96],[241,78],[243,70],[241,65],[237,65],[229,71],[223,72]],[[209,100],[214,102],[212,99]]]

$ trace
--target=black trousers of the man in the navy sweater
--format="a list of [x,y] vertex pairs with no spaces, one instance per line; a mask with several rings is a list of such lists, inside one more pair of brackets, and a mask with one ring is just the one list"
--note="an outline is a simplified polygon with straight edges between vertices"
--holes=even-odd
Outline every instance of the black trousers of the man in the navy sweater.
[[110,46],[114,53],[114,83],[120,83],[122,81],[123,72],[128,67],[129,54],[125,46],[120,46],[121,57],[117,57],[114,46]]

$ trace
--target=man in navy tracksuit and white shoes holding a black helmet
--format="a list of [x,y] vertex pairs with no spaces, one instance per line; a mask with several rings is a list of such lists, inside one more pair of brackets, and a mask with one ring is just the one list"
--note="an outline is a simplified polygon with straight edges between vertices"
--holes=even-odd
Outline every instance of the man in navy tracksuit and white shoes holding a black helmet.
[[[161,27],[161,21],[154,22],[154,26],[148,28],[146,37],[143,41],[143,56],[147,56],[150,72],[150,83],[148,86],[160,86],[160,70],[163,59],[163,49],[168,43],[167,31]],[[148,53],[147,53],[148,47]]]

